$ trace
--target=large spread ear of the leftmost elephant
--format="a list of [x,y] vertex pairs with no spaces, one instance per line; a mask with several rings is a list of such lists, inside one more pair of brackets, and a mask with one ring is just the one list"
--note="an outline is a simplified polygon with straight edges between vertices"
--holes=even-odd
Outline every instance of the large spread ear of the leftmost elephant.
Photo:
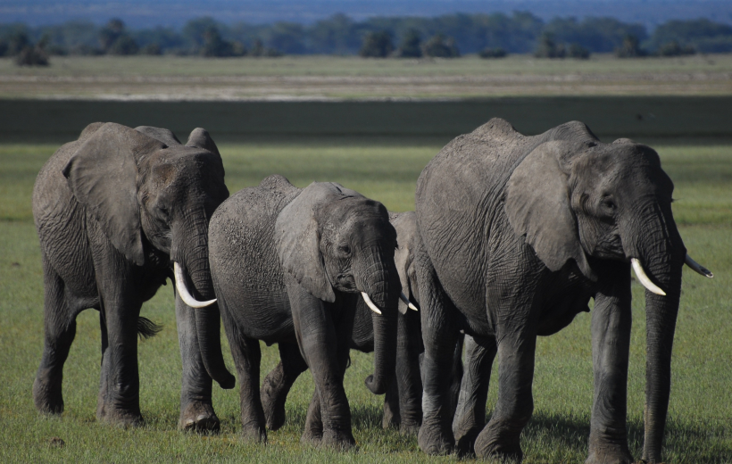
[[137,160],[162,149],[159,140],[108,122],[80,145],[62,173],[76,199],[91,211],[104,235],[142,266],[145,253],[137,204]]

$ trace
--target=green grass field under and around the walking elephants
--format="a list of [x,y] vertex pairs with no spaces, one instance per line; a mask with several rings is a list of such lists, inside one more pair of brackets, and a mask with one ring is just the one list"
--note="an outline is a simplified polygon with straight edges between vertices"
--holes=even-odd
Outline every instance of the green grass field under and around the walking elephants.
[[[179,136],[183,136],[179,134]],[[0,144],[0,460],[15,462],[423,462],[416,440],[382,430],[383,397],[368,392],[363,378],[371,356],[353,353],[346,393],[354,416],[357,452],[301,446],[299,438],[312,394],[304,374],[287,403],[285,427],[270,432],[266,446],[242,442],[237,388],[214,387],[220,435],[177,430],[180,360],[171,286],[147,302],[143,314],[165,327],[139,344],[141,408],[146,425],[123,430],[96,423],[100,334],[96,311],[79,316],[63,381],[61,418],[39,416],[31,385],[42,349],[42,272],[30,193],[37,171],[58,145]],[[685,270],[674,346],[670,418],[665,462],[732,462],[732,144],[663,140],[653,146],[676,184],[674,214],[686,247],[715,273],[705,279]],[[412,210],[414,184],[437,153],[434,140],[334,138],[288,142],[221,143],[227,184],[233,193],[278,172],[297,186],[335,180],[375,198],[393,211]],[[630,446],[640,456],[645,388],[643,289],[634,284],[634,327],[628,381]],[[590,316],[580,314],[559,334],[539,340],[534,384],[535,412],[522,437],[525,462],[583,462],[592,405]],[[228,345],[224,347],[232,368]],[[277,362],[264,348],[262,376]],[[497,378],[495,376],[494,378]],[[487,413],[495,403],[491,386]],[[65,445],[50,444],[59,437]]]

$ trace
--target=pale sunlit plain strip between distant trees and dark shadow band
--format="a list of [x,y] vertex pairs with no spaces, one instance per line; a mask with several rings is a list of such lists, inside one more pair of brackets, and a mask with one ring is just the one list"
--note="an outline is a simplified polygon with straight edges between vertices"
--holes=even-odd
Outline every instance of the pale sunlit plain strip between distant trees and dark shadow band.
[[363,59],[354,56],[0,59],[0,97],[158,100],[473,98],[515,95],[728,95],[732,55],[620,60]]

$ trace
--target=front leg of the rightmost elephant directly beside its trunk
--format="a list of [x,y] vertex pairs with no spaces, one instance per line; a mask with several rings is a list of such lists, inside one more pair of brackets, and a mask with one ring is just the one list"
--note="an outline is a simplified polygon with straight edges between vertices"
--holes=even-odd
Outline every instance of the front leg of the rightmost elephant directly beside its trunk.
[[630,273],[627,265],[618,268],[611,278],[601,278],[612,285],[595,295],[592,311],[595,395],[587,464],[635,462],[628,449],[626,427],[632,319]]

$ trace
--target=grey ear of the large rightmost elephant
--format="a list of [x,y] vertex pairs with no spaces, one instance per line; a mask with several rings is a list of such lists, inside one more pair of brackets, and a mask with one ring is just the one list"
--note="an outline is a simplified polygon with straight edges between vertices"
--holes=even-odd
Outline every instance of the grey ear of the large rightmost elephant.
[[504,208],[513,231],[526,236],[547,268],[557,271],[572,259],[586,278],[595,281],[570,206],[570,175],[561,166],[569,146],[546,142],[529,153],[508,180]]

